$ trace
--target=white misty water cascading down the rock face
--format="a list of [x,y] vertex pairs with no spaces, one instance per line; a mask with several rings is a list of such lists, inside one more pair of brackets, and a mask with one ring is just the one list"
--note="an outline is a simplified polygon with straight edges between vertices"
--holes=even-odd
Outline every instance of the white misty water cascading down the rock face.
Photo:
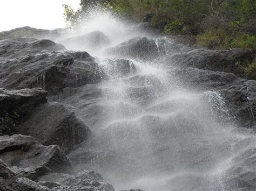
[[[110,46],[146,35],[108,14],[91,18],[85,29],[102,31]],[[76,112],[93,132],[79,148],[88,157],[78,171],[94,169],[117,190],[228,190],[226,170],[256,140],[228,118],[224,98],[180,86],[160,59],[118,60],[104,49],[84,49],[96,56],[107,80],[95,86],[99,96],[77,100]],[[161,56],[168,54],[173,52],[165,49]],[[118,66],[124,62],[125,70]],[[89,120],[84,110],[96,119]]]

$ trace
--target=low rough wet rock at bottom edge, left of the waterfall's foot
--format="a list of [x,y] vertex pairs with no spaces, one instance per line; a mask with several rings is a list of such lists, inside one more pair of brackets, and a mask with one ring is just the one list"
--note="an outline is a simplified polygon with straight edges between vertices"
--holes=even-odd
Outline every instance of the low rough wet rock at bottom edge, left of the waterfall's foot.
[[114,190],[108,182],[103,180],[100,174],[94,171],[83,171],[77,175],[49,173],[42,176],[38,181],[41,185],[49,185],[51,182],[52,190]]

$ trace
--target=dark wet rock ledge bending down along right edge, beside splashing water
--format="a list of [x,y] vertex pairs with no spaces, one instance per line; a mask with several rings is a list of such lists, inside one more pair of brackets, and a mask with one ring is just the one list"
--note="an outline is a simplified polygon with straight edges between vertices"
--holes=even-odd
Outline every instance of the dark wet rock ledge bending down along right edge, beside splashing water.
[[170,75],[188,89],[218,91],[225,98],[230,119],[245,128],[255,129],[256,81],[189,67],[173,68]]

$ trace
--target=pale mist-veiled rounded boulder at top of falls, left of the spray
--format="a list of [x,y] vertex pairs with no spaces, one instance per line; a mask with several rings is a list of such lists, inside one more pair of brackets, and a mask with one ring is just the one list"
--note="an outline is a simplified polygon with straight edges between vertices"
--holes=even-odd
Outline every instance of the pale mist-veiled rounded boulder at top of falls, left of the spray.
[[105,47],[109,45],[110,39],[101,31],[93,31],[82,36],[65,39],[60,43],[72,50],[85,50]]

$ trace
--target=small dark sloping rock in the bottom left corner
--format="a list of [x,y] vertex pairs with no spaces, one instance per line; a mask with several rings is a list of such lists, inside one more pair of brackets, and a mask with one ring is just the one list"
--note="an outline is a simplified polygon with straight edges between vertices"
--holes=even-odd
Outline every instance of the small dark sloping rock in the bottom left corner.
[[0,190],[50,190],[27,178],[18,178],[14,172],[0,159]]

